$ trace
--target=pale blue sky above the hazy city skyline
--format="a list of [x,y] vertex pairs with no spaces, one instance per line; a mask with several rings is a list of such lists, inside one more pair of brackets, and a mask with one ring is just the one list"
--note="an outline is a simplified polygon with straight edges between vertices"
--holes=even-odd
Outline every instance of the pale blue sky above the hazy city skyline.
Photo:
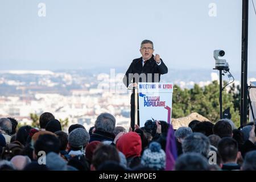
[[[213,51],[223,49],[230,71],[240,71],[241,29],[242,0],[0,0],[0,70],[126,69],[150,39],[169,69],[212,72]],[[253,32],[249,1],[248,71]]]

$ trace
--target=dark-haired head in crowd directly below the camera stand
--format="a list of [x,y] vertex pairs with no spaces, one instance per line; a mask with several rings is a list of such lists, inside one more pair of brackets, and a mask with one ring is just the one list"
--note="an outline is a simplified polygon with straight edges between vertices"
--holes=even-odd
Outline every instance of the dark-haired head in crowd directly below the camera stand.
[[232,126],[227,121],[219,120],[213,126],[213,134],[218,135],[220,138],[232,137]]

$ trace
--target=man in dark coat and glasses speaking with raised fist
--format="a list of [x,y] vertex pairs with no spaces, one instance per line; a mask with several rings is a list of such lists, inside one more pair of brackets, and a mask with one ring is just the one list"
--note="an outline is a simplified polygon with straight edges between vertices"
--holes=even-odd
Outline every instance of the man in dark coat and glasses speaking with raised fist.
[[[160,59],[160,56],[154,53],[154,45],[150,40],[143,40],[141,43],[142,57],[134,59],[127,69],[123,77],[123,83],[127,88],[133,88],[131,94],[131,128],[134,130],[135,125],[135,88],[138,82],[159,82],[160,75],[166,74],[168,68]],[[149,118],[150,119],[150,118]],[[138,125],[139,125],[139,112],[138,112]]]

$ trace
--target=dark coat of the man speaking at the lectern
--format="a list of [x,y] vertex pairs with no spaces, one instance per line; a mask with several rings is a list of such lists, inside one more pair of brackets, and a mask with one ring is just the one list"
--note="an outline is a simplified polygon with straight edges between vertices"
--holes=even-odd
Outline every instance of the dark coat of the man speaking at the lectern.
[[[160,75],[168,72],[168,68],[161,59],[161,64],[156,64],[154,55],[146,61],[142,67],[142,57],[134,59],[127,69],[125,76],[123,77],[123,83],[126,87],[132,82],[159,82]],[[148,74],[151,73],[151,74]],[[134,91],[134,90],[133,90]],[[134,92],[131,94],[131,104],[134,104]]]

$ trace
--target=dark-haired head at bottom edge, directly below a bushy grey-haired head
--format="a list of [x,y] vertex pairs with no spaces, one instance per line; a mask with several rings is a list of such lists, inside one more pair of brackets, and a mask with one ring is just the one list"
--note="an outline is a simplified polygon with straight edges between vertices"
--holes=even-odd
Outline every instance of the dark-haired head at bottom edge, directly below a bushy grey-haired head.
[[209,165],[202,155],[188,152],[177,158],[175,171],[209,171]]

